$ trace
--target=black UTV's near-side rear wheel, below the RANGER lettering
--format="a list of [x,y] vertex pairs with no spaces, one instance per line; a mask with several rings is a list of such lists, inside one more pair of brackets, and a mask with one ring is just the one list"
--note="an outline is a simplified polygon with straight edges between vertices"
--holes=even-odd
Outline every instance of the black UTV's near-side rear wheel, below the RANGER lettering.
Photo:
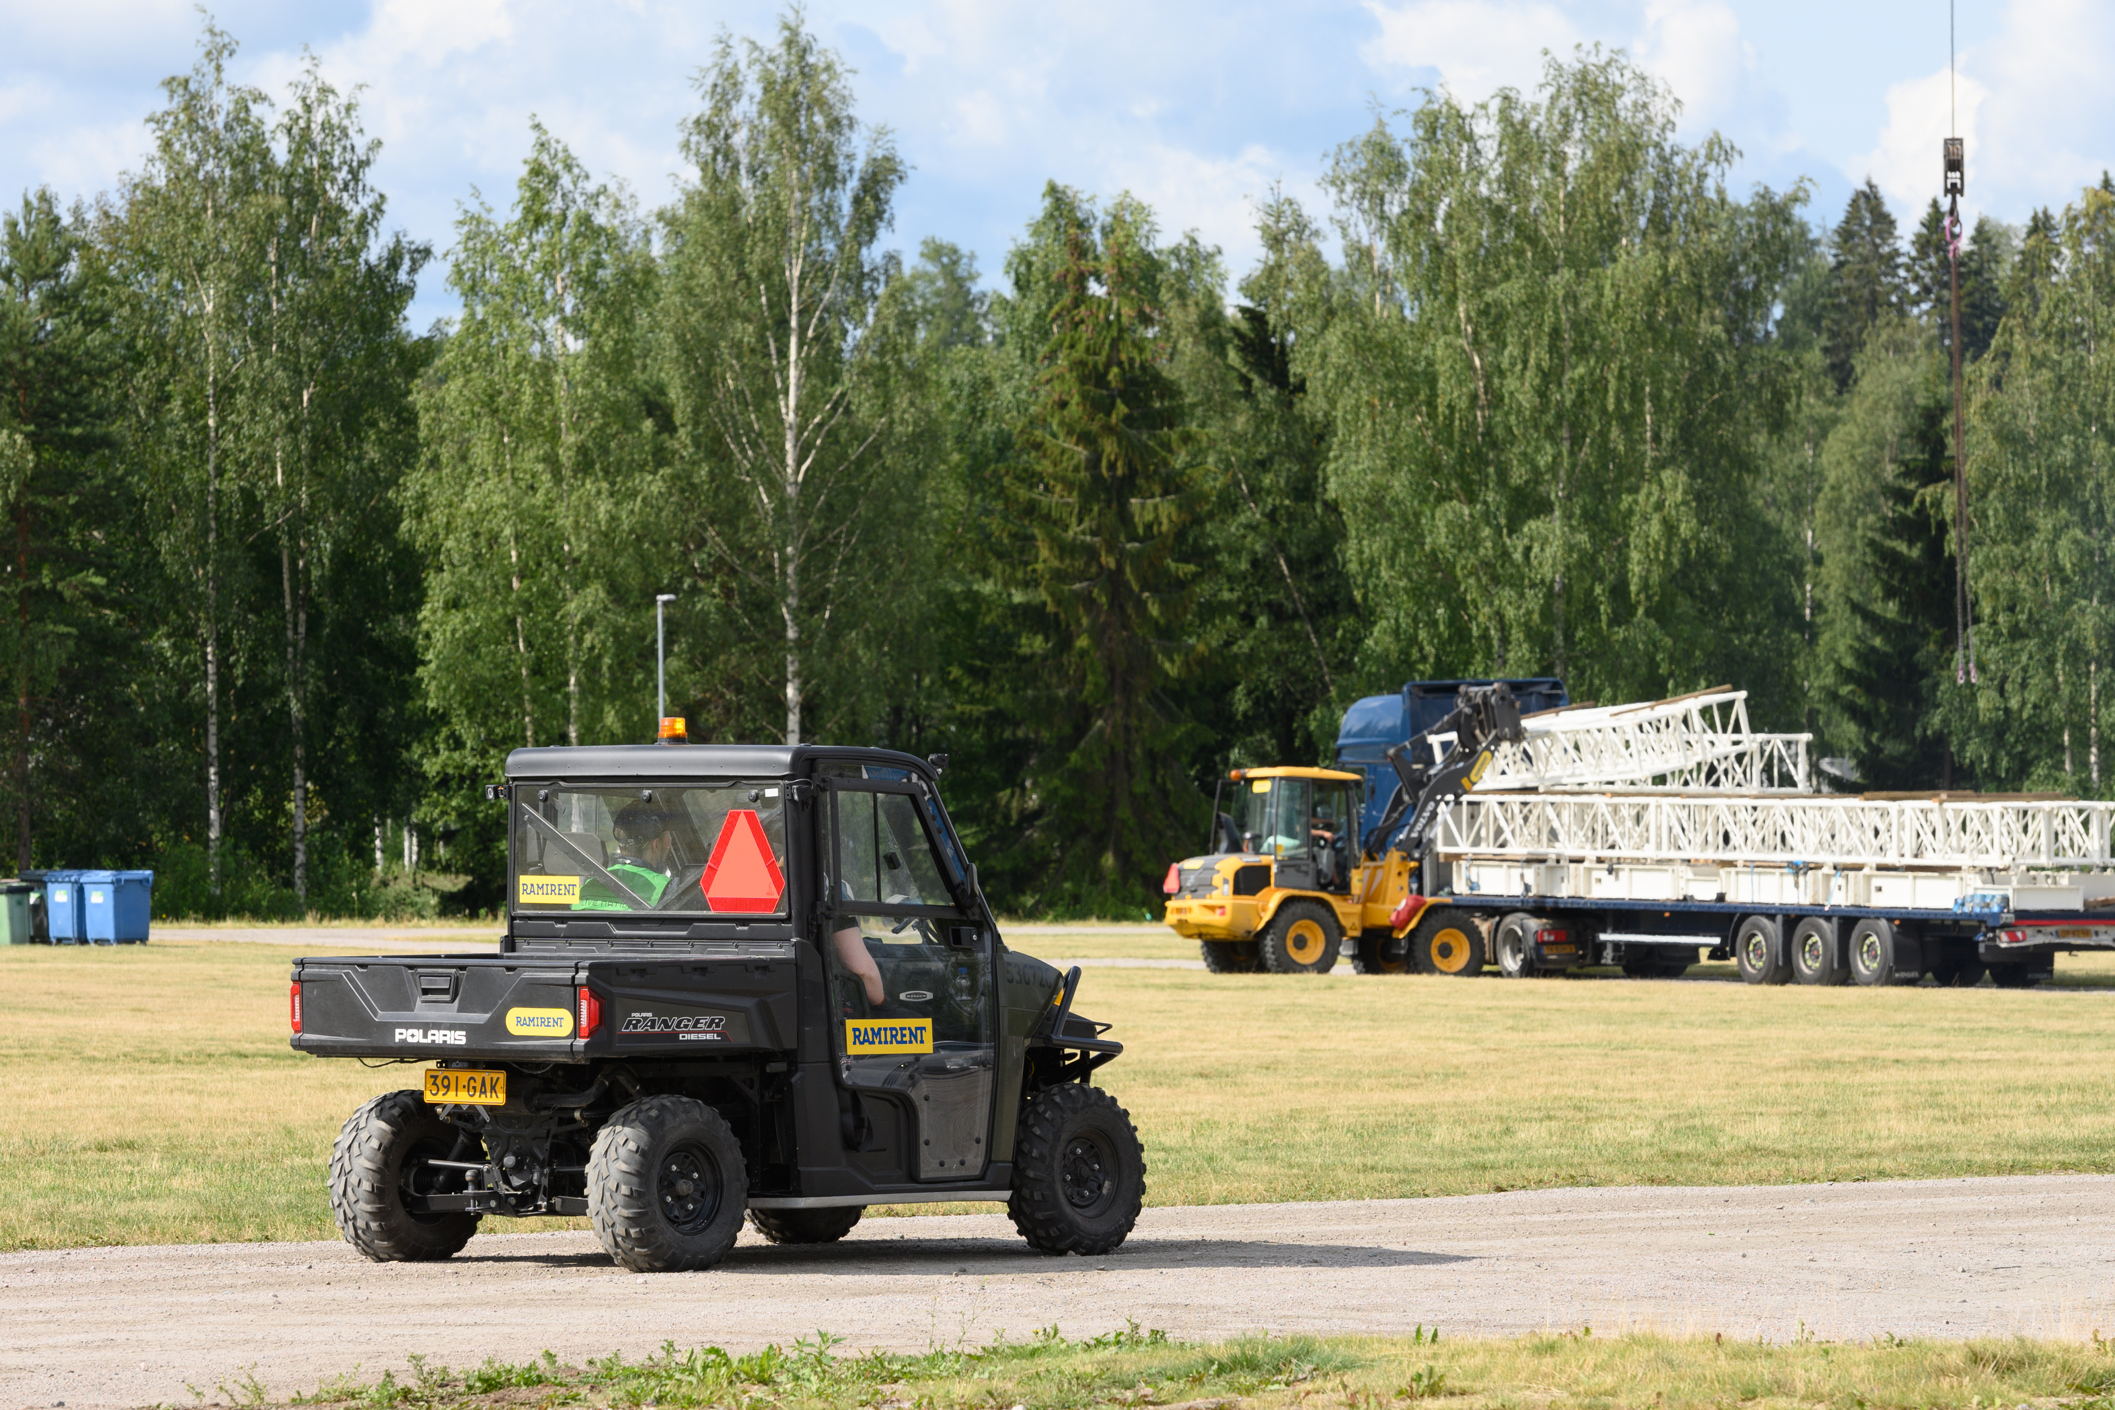
[[711,1268],[734,1247],[747,1203],[742,1144],[702,1101],[645,1097],[594,1133],[588,1218],[622,1268]]

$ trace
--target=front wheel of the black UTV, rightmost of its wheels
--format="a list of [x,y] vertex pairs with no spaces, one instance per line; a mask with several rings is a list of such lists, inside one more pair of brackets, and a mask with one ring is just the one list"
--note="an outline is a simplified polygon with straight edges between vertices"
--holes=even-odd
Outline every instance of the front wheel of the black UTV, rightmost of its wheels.
[[1100,1087],[1060,1082],[1022,1108],[1007,1213],[1038,1254],[1108,1254],[1146,1203],[1132,1114]]

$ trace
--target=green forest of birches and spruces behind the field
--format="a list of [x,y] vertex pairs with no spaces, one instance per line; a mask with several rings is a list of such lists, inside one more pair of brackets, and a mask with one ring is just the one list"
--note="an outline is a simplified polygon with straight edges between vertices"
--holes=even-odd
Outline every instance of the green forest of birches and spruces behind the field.
[[1015,913],[1157,913],[1222,769],[1406,679],[1732,683],[1861,789],[2115,797],[2107,175],[1961,239],[1956,514],[1937,199],[1732,190],[1620,51],[1377,114],[1254,268],[1047,184],[988,279],[795,13],[711,53],[658,209],[531,123],[423,332],[355,95],[235,53],[0,226],[21,869],[491,911],[482,784],[654,738],[656,594],[692,740],[948,753]]

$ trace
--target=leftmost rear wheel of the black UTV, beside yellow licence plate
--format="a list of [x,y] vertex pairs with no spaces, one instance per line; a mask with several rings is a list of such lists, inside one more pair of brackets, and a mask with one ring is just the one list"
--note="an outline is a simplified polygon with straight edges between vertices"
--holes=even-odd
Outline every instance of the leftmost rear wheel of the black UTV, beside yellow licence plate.
[[406,1196],[463,1190],[461,1173],[427,1165],[461,1158],[455,1154],[459,1139],[463,1133],[417,1091],[383,1093],[353,1112],[330,1150],[330,1211],[345,1241],[379,1264],[459,1254],[478,1232],[478,1216],[404,1207]]

